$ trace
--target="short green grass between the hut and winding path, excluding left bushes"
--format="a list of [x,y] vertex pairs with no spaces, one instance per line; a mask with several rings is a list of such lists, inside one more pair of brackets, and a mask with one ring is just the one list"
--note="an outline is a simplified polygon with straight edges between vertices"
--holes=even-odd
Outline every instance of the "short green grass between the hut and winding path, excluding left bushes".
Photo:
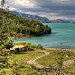
[[[37,75],[36,70],[31,69],[31,66],[28,65],[26,62],[30,59],[33,59],[39,55],[42,55],[44,53],[39,52],[38,50],[35,51],[27,51],[27,52],[19,52],[17,54],[11,54],[9,56],[9,63],[10,65],[13,64],[14,61],[16,61],[16,63],[18,65],[23,65],[25,66],[24,68],[18,68],[19,69],[19,73],[20,75]],[[12,68],[10,69],[4,69],[7,75],[11,75],[12,74]]]

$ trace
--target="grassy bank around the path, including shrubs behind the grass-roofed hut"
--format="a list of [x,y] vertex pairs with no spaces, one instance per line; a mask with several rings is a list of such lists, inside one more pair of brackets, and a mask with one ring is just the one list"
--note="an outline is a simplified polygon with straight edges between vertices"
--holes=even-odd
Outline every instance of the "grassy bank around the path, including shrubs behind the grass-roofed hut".
[[[15,46],[25,46],[28,45],[28,47],[31,48],[30,43],[16,43]],[[6,72],[6,75],[12,75],[13,73],[17,73],[20,75],[40,75],[40,72],[38,73],[35,69],[32,69],[29,64],[27,64],[27,61],[43,55],[44,53],[42,51],[47,51],[50,54],[46,55],[40,59],[38,59],[36,62],[38,62],[41,65],[45,66],[57,66],[58,62],[60,62],[59,58],[62,56],[63,62],[70,60],[75,57],[75,52],[72,51],[63,51],[63,50],[49,50],[49,49],[39,49],[40,46],[37,47],[37,45],[32,46],[34,51],[24,51],[24,52],[17,52],[15,54],[10,54],[8,56],[8,62],[10,64],[9,68],[3,68]],[[74,73],[75,71],[75,65],[70,65],[66,67],[65,73],[68,75],[68,73]],[[3,72],[4,72],[3,71]],[[45,72],[41,72],[43,74],[46,74]],[[54,73],[48,72],[48,74],[54,75]],[[14,75],[14,74],[13,74]],[[73,74],[72,74],[73,75]]]

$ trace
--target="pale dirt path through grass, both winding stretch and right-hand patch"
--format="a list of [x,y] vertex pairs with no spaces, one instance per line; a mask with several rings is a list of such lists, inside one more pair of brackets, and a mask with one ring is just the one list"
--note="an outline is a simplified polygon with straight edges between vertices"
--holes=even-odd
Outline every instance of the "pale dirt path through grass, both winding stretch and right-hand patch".
[[[31,59],[31,60],[27,61],[27,63],[30,64],[30,65],[34,65],[34,66],[37,67],[37,68],[44,68],[44,67],[49,68],[49,67],[47,67],[47,66],[40,65],[40,64],[38,64],[38,63],[36,62],[37,59],[42,58],[42,57],[44,57],[44,56],[50,54],[50,53],[47,52],[47,51],[40,51],[40,52],[44,52],[45,54],[40,55],[40,56],[37,56],[37,57]],[[67,60],[67,61],[63,62],[63,67],[66,67],[66,66],[69,66],[69,65],[72,65],[72,64],[74,64],[74,59],[70,59],[70,60]]]

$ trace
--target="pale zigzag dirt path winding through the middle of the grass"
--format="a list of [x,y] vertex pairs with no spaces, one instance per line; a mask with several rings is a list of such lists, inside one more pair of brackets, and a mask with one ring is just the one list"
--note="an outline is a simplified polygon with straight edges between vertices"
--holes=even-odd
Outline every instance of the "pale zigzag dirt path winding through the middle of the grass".
[[47,52],[47,51],[41,51],[41,52],[44,52],[45,54],[44,54],[44,55],[37,56],[37,57],[35,57],[34,59],[31,59],[31,60],[29,60],[27,63],[30,64],[30,65],[34,65],[34,66],[37,67],[37,68],[44,68],[44,67],[47,68],[47,66],[40,65],[40,64],[38,64],[38,63],[36,62],[37,59],[39,59],[39,58],[41,58],[41,57],[44,57],[44,56],[50,54],[50,53]]

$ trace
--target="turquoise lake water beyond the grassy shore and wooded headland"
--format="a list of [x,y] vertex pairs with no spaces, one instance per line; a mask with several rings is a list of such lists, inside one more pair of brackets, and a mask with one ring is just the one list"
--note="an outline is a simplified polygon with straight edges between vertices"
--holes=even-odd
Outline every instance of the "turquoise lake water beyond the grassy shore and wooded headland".
[[[14,42],[31,42],[48,48],[75,49],[75,24],[71,23],[44,23],[52,28],[52,34],[40,37],[18,38]],[[61,44],[62,43],[62,44]]]

